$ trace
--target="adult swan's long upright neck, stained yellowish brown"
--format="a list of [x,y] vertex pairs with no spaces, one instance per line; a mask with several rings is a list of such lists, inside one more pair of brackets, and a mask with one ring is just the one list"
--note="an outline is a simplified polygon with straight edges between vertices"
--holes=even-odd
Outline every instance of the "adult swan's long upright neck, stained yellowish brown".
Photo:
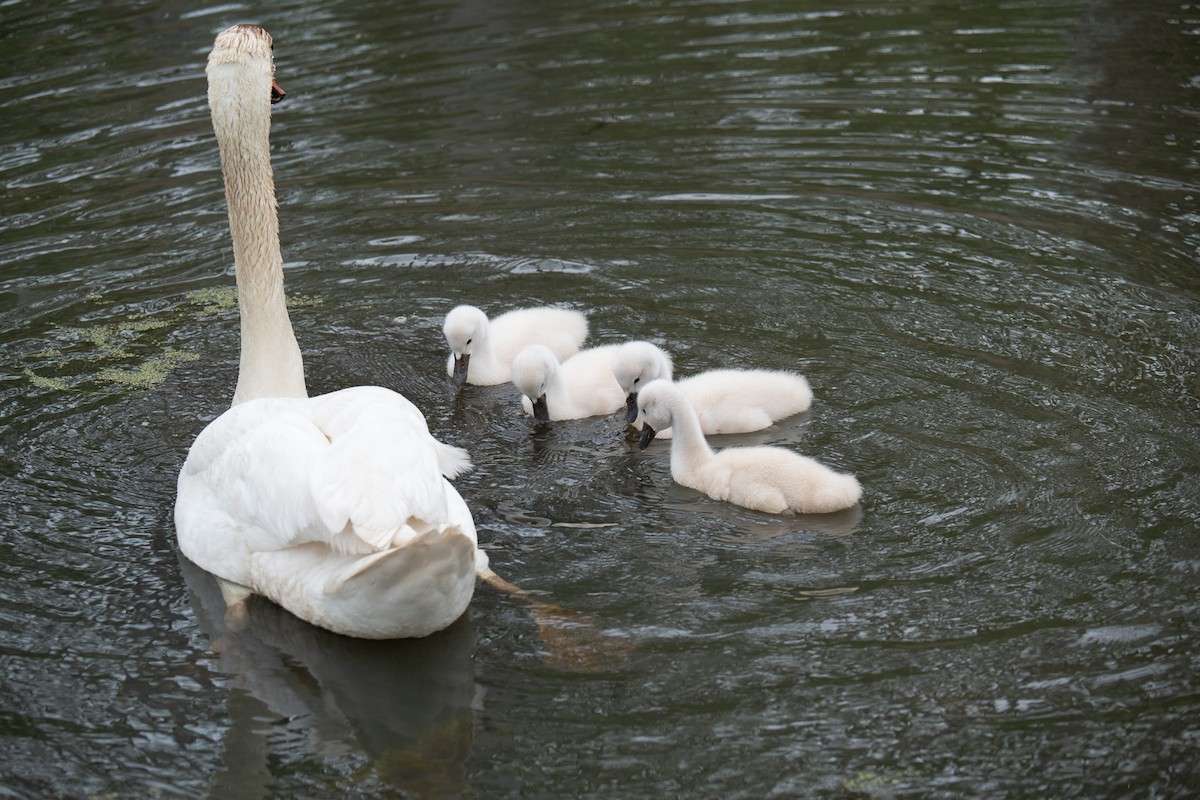
[[307,397],[304,361],[283,294],[283,257],[270,154],[270,76],[244,65],[210,72],[209,103],[221,145],[229,231],[241,311],[241,363],[233,404],[256,397]]

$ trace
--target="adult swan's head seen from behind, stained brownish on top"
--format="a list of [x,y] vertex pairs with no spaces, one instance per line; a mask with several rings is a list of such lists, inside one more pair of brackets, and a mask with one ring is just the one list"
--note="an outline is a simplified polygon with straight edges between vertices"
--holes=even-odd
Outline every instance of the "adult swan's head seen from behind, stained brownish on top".
[[[270,103],[283,100],[275,83],[271,35],[258,25],[234,25],[217,34],[209,53],[209,107],[217,120],[270,120]],[[269,102],[268,102],[269,101]]]

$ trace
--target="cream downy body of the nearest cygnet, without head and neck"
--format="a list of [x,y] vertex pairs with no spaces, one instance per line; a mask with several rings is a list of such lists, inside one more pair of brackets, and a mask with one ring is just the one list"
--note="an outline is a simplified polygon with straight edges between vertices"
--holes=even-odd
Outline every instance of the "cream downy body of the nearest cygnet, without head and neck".
[[853,475],[782,447],[727,447],[697,474],[676,480],[718,500],[782,513],[828,513],[856,505],[863,488]]

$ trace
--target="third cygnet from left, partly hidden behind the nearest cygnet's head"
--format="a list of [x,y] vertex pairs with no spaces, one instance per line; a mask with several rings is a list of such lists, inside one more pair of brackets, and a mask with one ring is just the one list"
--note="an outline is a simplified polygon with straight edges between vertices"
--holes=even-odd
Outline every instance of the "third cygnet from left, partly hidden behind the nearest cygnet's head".
[[[649,342],[626,342],[612,361],[612,373],[626,396],[625,420],[641,428],[637,393],[652,380],[671,380],[671,356]],[[778,420],[808,410],[809,381],[780,369],[710,369],[676,383],[688,397],[706,435],[761,431]],[[661,438],[671,429],[658,431]]]

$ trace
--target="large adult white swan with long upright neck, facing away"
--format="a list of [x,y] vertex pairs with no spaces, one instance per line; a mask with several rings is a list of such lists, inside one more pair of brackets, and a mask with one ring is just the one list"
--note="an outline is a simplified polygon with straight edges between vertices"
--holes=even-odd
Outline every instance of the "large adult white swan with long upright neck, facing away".
[[470,511],[446,477],[466,451],[436,440],[404,397],[360,386],[307,397],[283,295],[270,162],[271,37],[221,32],[209,107],[229,205],[241,363],[233,407],[197,437],[179,475],[184,554],[216,575],[232,612],[264,595],[364,638],[432,633],[490,575]]

